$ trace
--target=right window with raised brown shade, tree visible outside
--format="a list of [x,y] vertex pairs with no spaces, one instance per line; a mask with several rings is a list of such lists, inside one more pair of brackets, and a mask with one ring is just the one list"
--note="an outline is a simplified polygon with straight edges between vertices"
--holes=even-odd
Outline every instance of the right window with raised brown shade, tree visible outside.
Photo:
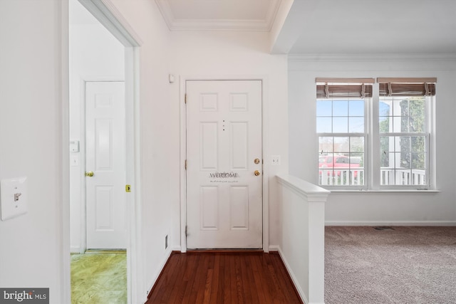
[[435,79],[378,78],[380,186],[430,186],[430,103]]

